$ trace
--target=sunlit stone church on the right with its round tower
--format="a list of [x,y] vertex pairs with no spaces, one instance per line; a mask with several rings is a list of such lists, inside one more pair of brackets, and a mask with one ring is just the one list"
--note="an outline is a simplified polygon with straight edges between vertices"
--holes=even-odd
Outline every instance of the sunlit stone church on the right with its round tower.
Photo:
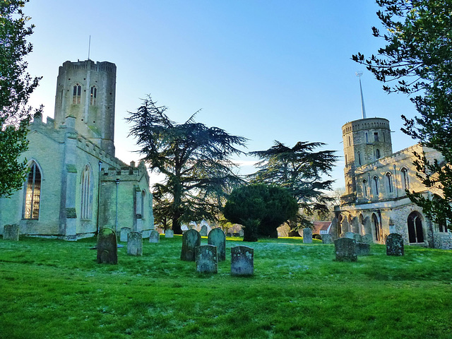
[[374,242],[384,244],[386,236],[396,232],[405,244],[452,249],[446,225],[427,219],[405,194],[409,189],[434,198],[435,192],[416,177],[413,151],[440,162],[442,155],[421,145],[393,153],[387,119],[350,121],[342,130],[346,192],[335,206],[331,233],[336,237],[345,232],[371,234]]

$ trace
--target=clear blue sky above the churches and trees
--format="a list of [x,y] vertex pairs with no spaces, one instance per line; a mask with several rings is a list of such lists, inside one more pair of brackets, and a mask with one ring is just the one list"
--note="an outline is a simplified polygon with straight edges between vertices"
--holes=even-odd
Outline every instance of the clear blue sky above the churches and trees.
[[367,117],[391,122],[393,150],[414,143],[400,131],[400,114],[415,114],[408,97],[387,95],[350,59],[382,46],[371,35],[378,9],[371,0],[31,0],[28,71],[44,76],[31,104],[53,117],[58,68],[88,59],[91,35],[90,59],[117,65],[121,160],[138,160],[124,117],[150,94],[174,121],[202,109],[197,121],[249,138],[247,150],[275,140],[327,143],[340,155],[332,177],[342,187],[341,126],[361,117],[356,71],[364,72]]

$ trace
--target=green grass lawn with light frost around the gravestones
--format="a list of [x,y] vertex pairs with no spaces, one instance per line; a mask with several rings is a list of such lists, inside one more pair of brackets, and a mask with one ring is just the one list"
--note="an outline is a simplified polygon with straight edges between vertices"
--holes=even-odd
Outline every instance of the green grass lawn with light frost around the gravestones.
[[[203,238],[203,244],[207,239]],[[0,239],[0,338],[452,338],[452,251],[227,238],[218,274],[180,261],[182,237],[95,262],[95,239]],[[254,276],[230,275],[230,248],[254,248]]]

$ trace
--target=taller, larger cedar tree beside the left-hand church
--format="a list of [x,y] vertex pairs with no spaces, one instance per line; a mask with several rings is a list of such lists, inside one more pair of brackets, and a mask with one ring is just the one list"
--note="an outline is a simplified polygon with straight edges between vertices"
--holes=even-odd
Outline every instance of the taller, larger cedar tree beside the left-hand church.
[[137,112],[129,112],[127,121],[133,123],[129,135],[141,146],[143,160],[165,176],[165,182],[154,186],[162,203],[158,215],[168,215],[174,233],[182,234],[182,222],[216,220],[222,198],[242,184],[230,157],[242,153],[235,146],[243,146],[246,138],[196,122],[196,113],[177,124],[166,110],[148,97]]

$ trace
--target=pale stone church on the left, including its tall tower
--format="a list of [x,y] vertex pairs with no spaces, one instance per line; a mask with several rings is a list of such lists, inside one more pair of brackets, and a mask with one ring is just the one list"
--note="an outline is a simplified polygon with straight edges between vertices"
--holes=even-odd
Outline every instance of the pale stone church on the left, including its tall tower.
[[54,119],[36,114],[23,158],[30,172],[23,189],[0,198],[0,232],[77,240],[102,227],[148,237],[153,198],[144,165],[114,155],[116,65],[66,61],[59,67]]

